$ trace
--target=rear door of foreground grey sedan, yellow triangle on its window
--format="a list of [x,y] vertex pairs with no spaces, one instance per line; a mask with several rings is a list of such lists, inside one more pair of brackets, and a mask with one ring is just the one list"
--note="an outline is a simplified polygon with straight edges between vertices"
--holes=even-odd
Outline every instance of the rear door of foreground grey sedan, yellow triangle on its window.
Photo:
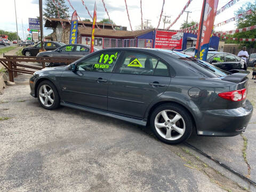
[[108,111],[143,118],[149,104],[169,86],[169,66],[160,58],[127,51],[108,90]]

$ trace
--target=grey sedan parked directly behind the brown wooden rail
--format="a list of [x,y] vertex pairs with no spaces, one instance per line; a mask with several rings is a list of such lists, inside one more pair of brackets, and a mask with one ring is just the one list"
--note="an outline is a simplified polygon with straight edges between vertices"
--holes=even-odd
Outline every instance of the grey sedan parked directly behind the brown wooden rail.
[[[94,51],[98,51],[96,47],[93,48]],[[54,57],[54,58],[69,58],[69,59],[79,59],[90,53],[91,46],[83,44],[68,44],[59,47],[53,51],[44,51],[36,55],[36,57]],[[45,66],[49,67],[53,63],[46,62]],[[62,63],[54,63],[62,64]]]

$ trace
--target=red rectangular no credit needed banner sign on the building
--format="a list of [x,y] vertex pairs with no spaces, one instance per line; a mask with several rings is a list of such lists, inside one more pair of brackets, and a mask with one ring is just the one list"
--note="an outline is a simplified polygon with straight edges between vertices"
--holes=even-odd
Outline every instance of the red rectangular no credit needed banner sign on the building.
[[172,31],[156,31],[155,48],[181,50],[183,33]]

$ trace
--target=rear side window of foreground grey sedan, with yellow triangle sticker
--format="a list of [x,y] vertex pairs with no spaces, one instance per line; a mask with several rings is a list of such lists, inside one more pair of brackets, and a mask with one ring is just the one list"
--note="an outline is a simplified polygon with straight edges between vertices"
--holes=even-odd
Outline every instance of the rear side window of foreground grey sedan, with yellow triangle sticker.
[[126,52],[117,73],[169,76],[167,65],[148,54]]

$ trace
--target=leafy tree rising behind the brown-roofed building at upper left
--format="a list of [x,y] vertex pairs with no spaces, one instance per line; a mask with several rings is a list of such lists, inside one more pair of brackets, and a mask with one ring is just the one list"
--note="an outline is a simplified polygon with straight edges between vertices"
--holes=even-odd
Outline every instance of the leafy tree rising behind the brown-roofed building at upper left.
[[[64,0],[59,0],[63,10],[61,9],[60,5],[58,4],[57,1],[55,1],[57,7],[58,7],[58,10],[59,10],[59,13],[60,13],[60,19],[66,19],[66,13],[67,15],[68,14],[68,6],[65,4],[65,1]],[[58,11],[55,7],[55,4],[53,3],[52,0],[46,0],[46,8],[44,9],[44,17],[48,17],[48,18],[59,18],[58,17]]]

